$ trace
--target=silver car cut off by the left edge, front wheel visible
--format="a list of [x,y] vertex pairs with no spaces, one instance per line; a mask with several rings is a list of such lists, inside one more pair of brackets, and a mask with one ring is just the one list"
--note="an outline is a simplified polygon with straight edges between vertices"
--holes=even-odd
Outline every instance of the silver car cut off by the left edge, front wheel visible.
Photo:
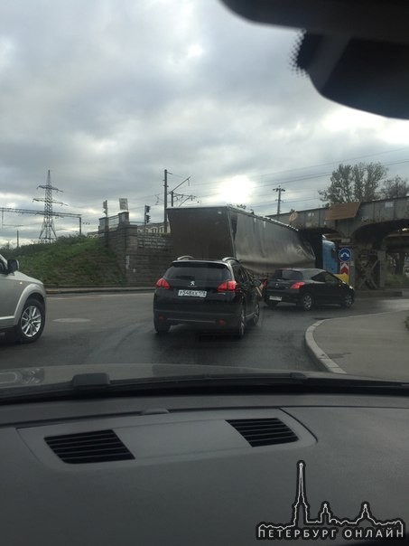
[[41,280],[27,277],[16,259],[0,254],[0,333],[10,341],[30,344],[45,325],[46,295]]

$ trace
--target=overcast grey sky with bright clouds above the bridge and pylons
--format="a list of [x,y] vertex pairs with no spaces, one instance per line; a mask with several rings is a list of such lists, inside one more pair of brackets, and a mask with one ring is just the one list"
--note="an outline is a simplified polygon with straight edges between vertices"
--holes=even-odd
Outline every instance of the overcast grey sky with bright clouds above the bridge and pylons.
[[[163,170],[185,204],[256,213],[320,206],[339,163],[381,161],[409,176],[409,124],[321,98],[289,64],[297,34],[218,0],[0,3],[0,207],[57,212],[98,229],[127,198],[132,221],[163,219]],[[181,204],[181,202],[178,202]],[[42,216],[4,213],[0,245],[37,240]],[[20,227],[17,227],[20,226]],[[56,219],[58,235],[78,221]]]

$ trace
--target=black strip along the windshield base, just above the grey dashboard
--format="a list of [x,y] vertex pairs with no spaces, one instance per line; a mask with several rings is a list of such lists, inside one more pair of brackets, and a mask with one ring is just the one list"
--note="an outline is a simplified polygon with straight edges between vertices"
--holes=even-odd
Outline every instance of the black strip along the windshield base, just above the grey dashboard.
[[160,378],[111,380],[107,373],[80,373],[71,381],[14,387],[0,391],[0,403],[33,400],[108,398],[146,394],[284,394],[342,393],[409,395],[409,383],[351,376],[311,376],[303,372],[237,373],[222,375],[172,375]]

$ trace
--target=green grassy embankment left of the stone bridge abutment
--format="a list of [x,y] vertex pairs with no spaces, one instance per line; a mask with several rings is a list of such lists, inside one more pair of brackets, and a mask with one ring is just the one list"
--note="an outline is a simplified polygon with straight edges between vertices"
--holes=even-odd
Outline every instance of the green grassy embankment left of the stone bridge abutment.
[[125,285],[114,254],[98,239],[60,237],[51,244],[0,248],[0,254],[6,259],[18,259],[20,270],[40,278],[46,287]]

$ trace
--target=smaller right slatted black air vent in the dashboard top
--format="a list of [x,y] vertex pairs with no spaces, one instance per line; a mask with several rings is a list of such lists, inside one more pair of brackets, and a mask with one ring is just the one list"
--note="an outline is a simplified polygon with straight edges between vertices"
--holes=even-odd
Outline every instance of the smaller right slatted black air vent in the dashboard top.
[[296,442],[293,430],[280,419],[231,419],[228,423],[246,438],[252,447]]

